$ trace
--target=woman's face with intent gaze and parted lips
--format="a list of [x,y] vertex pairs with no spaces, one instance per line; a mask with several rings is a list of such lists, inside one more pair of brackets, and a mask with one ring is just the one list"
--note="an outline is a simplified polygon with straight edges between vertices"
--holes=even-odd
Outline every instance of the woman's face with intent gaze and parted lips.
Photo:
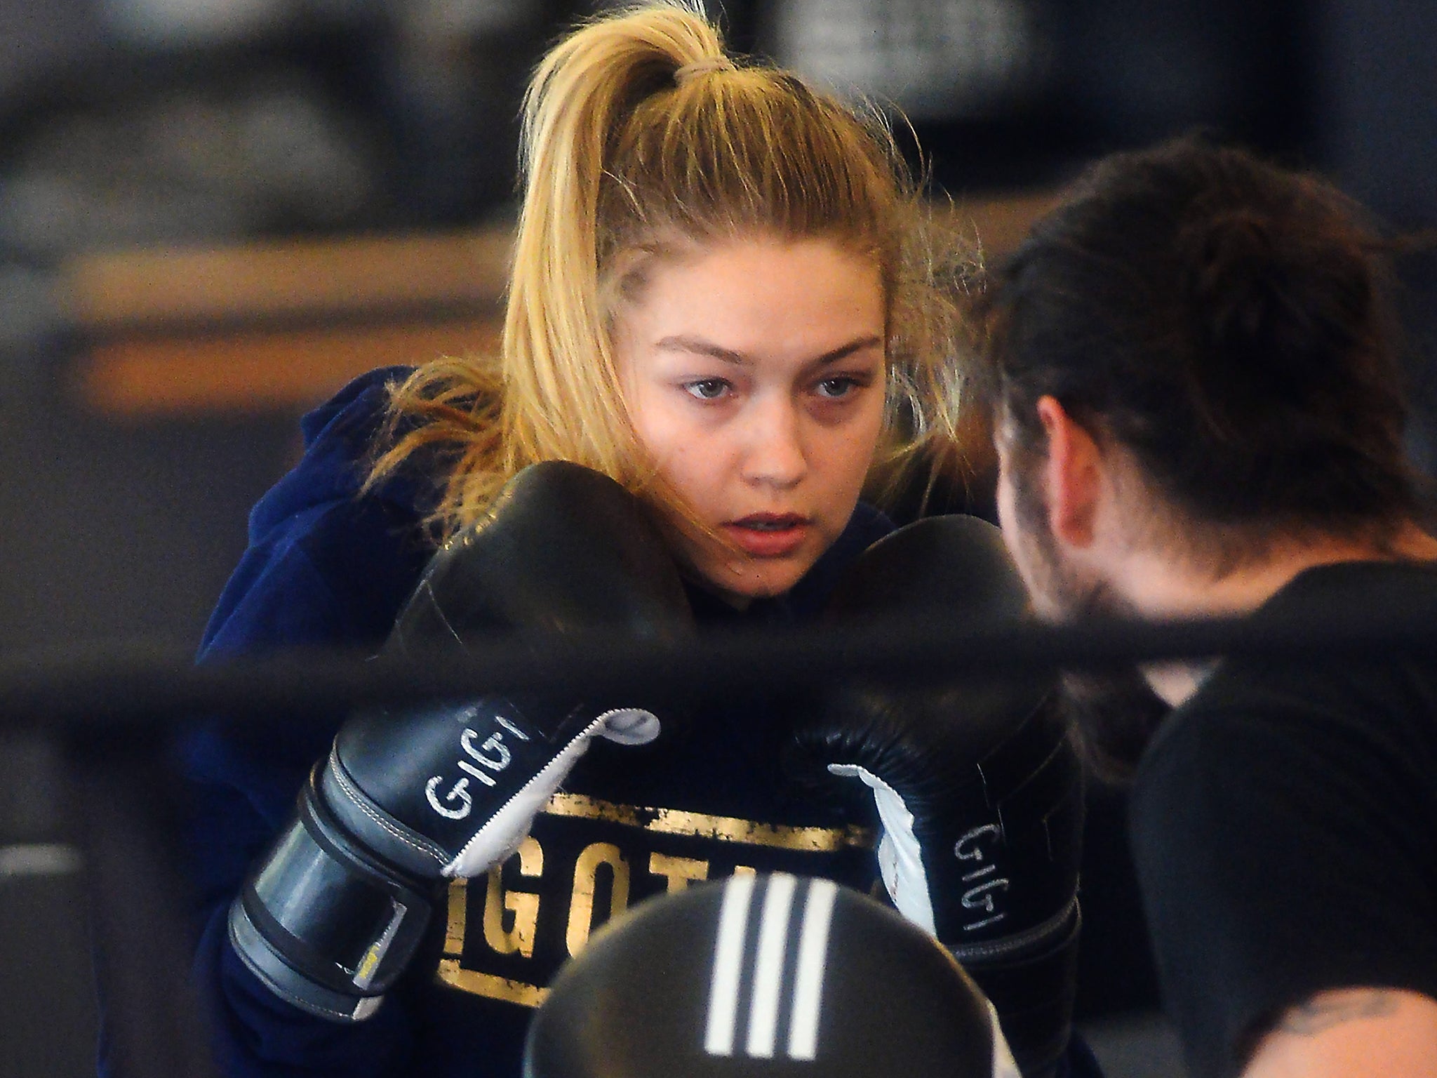
[[624,392],[685,571],[746,604],[792,588],[858,502],[884,417],[878,266],[756,236],[655,257],[615,319]]

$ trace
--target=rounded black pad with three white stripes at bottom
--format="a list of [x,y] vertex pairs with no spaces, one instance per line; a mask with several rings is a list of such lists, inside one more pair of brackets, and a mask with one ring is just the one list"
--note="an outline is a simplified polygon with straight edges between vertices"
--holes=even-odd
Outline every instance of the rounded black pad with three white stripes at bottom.
[[529,1025],[525,1078],[1019,1078],[943,947],[831,880],[734,875],[604,926]]

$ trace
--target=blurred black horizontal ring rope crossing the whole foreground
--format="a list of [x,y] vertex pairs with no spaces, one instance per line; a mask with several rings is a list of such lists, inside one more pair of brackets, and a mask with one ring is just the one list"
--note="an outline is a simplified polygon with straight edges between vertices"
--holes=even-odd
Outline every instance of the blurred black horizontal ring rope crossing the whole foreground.
[[593,699],[782,690],[874,680],[934,684],[1035,668],[1243,654],[1272,661],[1437,657],[1437,605],[1414,598],[1382,608],[1334,604],[1316,617],[1081,624],[973,624],[921,617],[862,627],[805,624],[691,638],[635,640],[621,631],[526,634],[468,641],[405,658],[342,650],[292,650],[194,665],[190,648],[139,642],[13,653],[0,658],[0,729],[73,733],[167,726],[185,716],[332,710],[365,703],[463,699],[543,688]]

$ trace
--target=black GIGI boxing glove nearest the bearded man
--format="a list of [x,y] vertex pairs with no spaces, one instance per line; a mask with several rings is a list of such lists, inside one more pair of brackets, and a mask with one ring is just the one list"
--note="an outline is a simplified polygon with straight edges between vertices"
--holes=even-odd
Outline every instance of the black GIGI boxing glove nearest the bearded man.
[[[832,604],[849,618],[925,611],[1026,617],[996,528],[963,516],[910,525],[855,562]],[[845,688],[796,739],[810,778],[822,769],[869,788],[894,904],[993,1000],[1023,1074],[1049,1074],[1072,1022],[1083,822],[1056,674]]]

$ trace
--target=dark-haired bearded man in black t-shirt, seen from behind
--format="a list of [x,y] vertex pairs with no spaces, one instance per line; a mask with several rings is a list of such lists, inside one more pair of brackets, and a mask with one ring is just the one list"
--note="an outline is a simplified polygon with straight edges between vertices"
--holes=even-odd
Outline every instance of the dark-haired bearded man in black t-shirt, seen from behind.
[[[1328,184],[1184,139],[1099,164],[986,299],[1004,538],[1039,611],[1332,617],[1431,596],[1390,270]],[[1164,1002],[1197,1075],[1437,1075],[1437,667],[1144,668]]]

